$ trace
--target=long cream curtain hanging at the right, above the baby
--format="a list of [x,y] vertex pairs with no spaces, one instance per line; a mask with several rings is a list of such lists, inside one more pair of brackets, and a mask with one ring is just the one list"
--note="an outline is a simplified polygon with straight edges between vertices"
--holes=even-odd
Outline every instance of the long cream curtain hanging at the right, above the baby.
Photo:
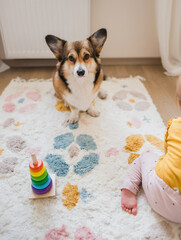
[[155,0],[160,55],[166,74],[181,74],[181,0]]

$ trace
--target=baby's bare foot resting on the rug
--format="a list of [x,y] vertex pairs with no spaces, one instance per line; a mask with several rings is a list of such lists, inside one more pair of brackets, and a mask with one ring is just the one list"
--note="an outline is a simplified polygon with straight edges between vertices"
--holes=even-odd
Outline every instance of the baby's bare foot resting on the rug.
[[134,193],[128,189],[123,189],[121,193],[121,207],[129,214],[137,214],[137,200]]

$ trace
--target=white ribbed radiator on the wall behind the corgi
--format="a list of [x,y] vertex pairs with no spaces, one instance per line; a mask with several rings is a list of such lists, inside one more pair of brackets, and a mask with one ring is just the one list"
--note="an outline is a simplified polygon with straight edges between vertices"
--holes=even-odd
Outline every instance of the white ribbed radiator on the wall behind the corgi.
[[90,0],[0,0],[0,33],[5,59],[53,58],[45,36],[87,38]]

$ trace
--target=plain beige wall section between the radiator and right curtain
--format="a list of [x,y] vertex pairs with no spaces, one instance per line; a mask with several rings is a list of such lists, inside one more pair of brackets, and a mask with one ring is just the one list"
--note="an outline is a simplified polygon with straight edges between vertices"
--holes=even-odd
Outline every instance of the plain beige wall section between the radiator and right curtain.
[[160,56],[153,0],[91,0],[91,32],[101,27],[108,30],[102,57]]

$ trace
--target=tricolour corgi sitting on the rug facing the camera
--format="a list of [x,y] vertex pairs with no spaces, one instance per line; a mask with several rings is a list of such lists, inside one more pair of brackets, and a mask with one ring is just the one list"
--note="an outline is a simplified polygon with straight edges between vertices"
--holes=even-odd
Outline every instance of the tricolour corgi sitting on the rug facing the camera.
[[[93,117],[100,114],[94,100],[104,77],[99,55],[106,38],[107,30],[104,28],[83,41],[67,42],[53,35],[45,37],[58,59],[53,86],[55,96],[71,110],[69,123],[79,120],[80,111],[87,111]],[[104,98],[105,94],[100,92],[99,96]]]

